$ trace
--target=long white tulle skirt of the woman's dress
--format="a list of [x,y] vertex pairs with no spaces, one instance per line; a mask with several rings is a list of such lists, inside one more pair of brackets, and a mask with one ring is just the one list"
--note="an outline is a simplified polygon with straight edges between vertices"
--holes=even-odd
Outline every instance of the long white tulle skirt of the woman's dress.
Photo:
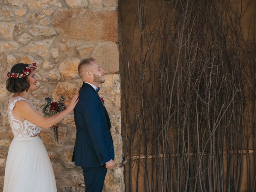
[[50,158],[38,136],[12,140],[4,192],[57,192]]

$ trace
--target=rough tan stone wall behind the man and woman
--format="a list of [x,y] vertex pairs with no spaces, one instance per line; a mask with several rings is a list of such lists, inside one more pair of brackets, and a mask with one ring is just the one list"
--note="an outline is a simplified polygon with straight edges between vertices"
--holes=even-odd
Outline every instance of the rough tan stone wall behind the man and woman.
[[[106,71],[100,95],[112,122],[117,166],[109,170],[104,191],[124,191],[120,115],[120,75],[117,0],[2,0],[0,1],[0,191],[13,135],[7,108],[6,73],[17,62],[38,64],[38,89],[30,96],[38,112],[45,97],[63,95],[67,102],[82,82],[77,74],[80,60],[94,57]],[[60,122],[59,145],[52,130],[40,137],[49,153],[59,192],[82,192],[80,167],[71,162],[76,128],[69,114]]]

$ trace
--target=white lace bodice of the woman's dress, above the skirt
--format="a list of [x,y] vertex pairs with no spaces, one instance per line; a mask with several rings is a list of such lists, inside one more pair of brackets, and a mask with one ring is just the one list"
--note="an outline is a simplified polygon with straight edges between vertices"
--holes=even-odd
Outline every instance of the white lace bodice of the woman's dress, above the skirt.
[[9,116],[9,121],[10,121],[10,127],[12,128],[12,133],[14,134],[14,138],[25,138],[25,137],[34,136],[34,135],[40,133],[41,128],[39,126],[36,126],[27,120],[24,120],[22,122],[22,121],[16,119],[12,113],[12,110],[13,110],[16,102],[18,102],[20,100],[25,100],[25,101],[29,102],[29,104],[32,106],[32,108],[34,108],[33,104],[29,100],[26,100],[20,96],[15,97],[14,100],[13,101],[12,100],[13,100],[13,98],[11,98],[10,102],[9,102],[8,116]]

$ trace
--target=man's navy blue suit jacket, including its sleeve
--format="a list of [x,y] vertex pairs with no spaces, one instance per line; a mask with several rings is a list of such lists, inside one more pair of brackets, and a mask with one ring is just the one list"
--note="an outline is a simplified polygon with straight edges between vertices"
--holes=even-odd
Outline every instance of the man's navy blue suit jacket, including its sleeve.
[[76,166],[96,167],[114,160],[110,119],[98,93],[83,83],[74,108],[76,142],[72,161]]

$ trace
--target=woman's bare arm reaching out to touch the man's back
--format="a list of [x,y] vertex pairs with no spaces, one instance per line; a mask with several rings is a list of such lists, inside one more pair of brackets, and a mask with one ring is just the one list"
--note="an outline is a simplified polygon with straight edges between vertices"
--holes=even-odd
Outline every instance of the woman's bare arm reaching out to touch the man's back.
[[36,110],[34,110],[30,104],[25,100],[20,100],[16,102],[13,112],[19,116],[22,116],[24,119],[28,120],[32,124],[35,124],[37,126],[40,126],[42,128],[50,128],[51,126],[57,124],[60,122],[64,117],[66,117],[76,106],[78,102],[78,94],[76,94],[68,107],[63,110],[62,112],[45,118],[40,113],[38,113]]

